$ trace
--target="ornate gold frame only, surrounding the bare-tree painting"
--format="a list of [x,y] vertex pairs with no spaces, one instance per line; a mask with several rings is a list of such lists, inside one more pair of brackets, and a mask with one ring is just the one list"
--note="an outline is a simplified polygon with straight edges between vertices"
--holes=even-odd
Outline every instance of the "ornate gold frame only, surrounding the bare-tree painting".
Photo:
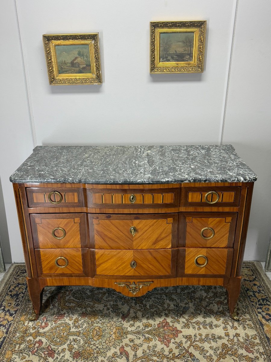
[[[160,62],[160,34],[192,32],[193,60],[187,62]],[[202,73],[205,49],[206,21],[151,21],[150,73]]]

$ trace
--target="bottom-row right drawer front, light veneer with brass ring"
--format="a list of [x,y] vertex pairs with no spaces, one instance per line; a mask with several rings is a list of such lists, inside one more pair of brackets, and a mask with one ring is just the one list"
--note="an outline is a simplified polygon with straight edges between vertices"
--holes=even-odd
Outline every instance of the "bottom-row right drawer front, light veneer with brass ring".
[[[229,249],[211,248],[186,248],[185,249],[185,274],[226,274]],[[207,257],[206,266],[200,267],[195,264],[195,258],[203,255]],[[205,258],[197,258],[197,263],[203,265]]]

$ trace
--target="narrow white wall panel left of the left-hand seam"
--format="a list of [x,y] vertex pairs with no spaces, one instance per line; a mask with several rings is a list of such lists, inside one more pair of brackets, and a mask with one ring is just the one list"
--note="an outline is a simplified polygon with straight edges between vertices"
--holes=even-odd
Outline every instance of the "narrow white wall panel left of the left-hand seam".
[[1,68],[0,236],[4,260],[10,263],[23,262],[24,258],[9,176],[33,148],[13,1],[1,3],[0,28],[1,58],[9,59]]

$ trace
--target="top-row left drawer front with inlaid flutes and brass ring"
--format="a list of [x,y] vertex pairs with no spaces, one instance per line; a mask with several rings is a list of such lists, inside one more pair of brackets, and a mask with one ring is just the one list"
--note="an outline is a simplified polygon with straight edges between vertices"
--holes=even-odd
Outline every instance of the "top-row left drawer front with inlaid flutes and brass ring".
[[[56,191],[57,193],[50,193]],[[29,187],[26,189],[29,207],[82,207],[83,190],[80,188],[41,188]],[[59,196],[59,194],[61,196]],[[52,203],[49,201],[58,202]],[[61,202],[59,202],[61,200]]]

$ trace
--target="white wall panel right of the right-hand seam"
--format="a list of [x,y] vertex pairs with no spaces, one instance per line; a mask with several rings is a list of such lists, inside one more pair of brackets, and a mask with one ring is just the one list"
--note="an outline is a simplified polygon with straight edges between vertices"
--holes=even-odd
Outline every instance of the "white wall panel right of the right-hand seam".
[[271,232],[271,72],[268,0],[239,0],[224,143],[232,143],[258,175],[245,260],[265,260]]

